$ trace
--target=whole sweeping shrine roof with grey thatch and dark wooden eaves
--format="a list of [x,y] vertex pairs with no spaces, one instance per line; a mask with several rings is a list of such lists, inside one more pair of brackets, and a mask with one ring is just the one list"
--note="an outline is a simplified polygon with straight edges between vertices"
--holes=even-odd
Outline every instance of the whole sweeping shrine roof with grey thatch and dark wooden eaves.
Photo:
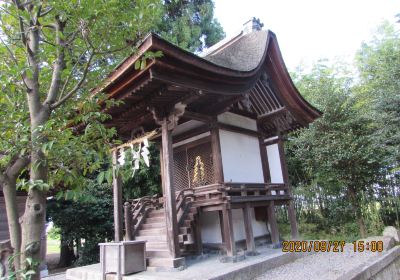
[[[136,69],[135,62],[148,51],[162,56]],[[267,136],[307,126],[321,115],[294,86],[271,31],[241,31],[199,55],[150,33],[94,94],[99,91],[124,101],[107,112],[109,125],[127,137],[139,126],[155,126],[151,108],[178,102],[211,116],[232,109],[249,113]]]

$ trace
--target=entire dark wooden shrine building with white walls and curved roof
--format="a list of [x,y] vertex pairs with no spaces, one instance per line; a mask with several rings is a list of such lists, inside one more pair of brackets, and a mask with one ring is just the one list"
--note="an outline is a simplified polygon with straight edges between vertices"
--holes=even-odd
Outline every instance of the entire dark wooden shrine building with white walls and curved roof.
[[[148,51],[163,55],[136,69]],[[114,178],[115,240],[146,240],[149,266],[182,266],[205,246],[234,259],[238,244],[248,254],[256,239],[276,244],[277,205],[297,237],[282,141],[321,113],[293,85],[274,33],[250,21],[200,56],[150,34],[98,91],[124,101],[107,110],[121,139],[142,131],[160,147],[161,197],[124,203]]]

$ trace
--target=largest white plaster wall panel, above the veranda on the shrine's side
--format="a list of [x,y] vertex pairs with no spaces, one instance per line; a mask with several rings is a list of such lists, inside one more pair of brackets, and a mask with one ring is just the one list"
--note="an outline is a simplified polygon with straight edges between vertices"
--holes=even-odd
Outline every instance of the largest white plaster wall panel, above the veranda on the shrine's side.
[[225,182],[263,183],[257,137],[219,130]]

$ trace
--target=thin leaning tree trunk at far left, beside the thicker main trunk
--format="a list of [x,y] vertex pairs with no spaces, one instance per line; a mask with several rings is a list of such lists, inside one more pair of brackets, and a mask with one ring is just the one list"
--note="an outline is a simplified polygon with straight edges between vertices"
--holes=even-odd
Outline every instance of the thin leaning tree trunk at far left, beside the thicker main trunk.
[[[3,194],[6,204],[11,246],[13,248],[13,253],[18,255],[21,252],[21,225],[19,223],[16,180],[14,178],[6,178],[3,185]],[[14,268],[16,271],[20,269],[19,257],[14,258]]]

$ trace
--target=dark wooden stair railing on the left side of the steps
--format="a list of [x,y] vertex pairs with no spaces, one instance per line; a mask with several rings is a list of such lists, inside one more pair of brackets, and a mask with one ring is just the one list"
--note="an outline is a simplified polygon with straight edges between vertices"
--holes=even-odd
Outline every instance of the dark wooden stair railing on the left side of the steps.
[[124,204],[126,239],[133,240],[151,209],[163,207],[163,199],[158,195],[131,199]]

